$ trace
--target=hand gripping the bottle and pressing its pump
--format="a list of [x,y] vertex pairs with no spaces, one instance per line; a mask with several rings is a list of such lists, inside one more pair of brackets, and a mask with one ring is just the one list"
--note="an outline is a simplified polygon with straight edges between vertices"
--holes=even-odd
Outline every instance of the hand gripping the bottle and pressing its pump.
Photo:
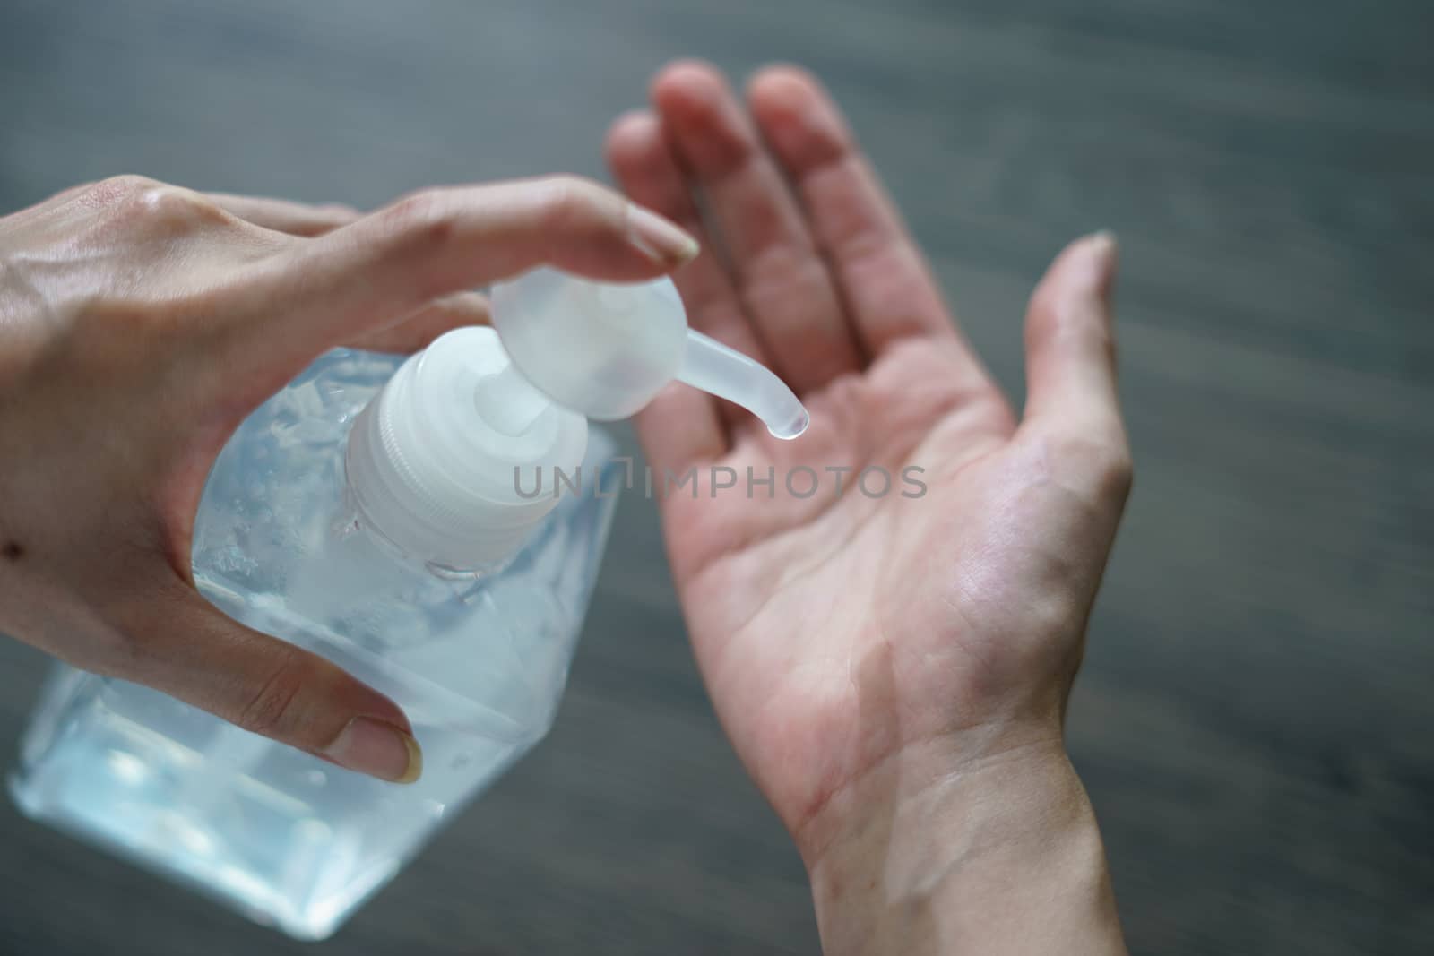
[[351,770],[412,780],[403,712],[194,589],[205,476],[338,343],[407,351],[552,264],[644,279],[680,229],[571,178],[433,189],[369,216],[136,176],[0,219],[0,632]]

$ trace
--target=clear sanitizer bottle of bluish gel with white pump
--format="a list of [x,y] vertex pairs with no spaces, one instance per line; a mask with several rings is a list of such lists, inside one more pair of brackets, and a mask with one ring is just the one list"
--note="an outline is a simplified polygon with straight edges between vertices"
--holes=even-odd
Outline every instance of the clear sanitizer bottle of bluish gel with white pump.
[[588,419],[680,378],[779,437],[806,427],[776,376],[687,328],[667,279],[536,269],[495,288],[493,322],[407,360],[321,357],[235,431],[194,529],[199,591],[396,701],[422,778],[59,666],[10,777],[22,811],[323,939],[551,727],[628,473]]

